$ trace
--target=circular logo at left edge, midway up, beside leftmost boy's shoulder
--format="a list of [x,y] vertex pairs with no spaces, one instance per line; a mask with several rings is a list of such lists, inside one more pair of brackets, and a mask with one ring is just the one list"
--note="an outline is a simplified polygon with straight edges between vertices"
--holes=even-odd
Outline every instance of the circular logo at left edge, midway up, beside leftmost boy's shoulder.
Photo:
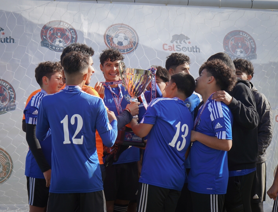
[[0,115],[15,110],[15,90],[5,80],[0,79]]

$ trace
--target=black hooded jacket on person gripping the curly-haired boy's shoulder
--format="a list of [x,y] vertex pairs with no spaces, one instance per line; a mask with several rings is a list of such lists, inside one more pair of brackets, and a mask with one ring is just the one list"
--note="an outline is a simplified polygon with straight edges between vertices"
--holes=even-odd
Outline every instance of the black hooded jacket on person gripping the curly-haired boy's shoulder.
[[232,111],[234,121],[232,148],[228,151],[229,171],[255,168],[258,155],[259,115],[249,81],[238,78],[230,95],[233,99],[228,107]]

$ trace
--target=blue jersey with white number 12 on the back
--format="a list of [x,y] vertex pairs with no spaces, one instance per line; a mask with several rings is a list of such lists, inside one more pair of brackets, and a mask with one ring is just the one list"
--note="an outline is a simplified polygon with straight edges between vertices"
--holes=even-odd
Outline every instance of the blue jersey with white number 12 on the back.
[[[103,100],[66,86],[45,96],[38,111],[37,138],[52,133],[52,193],[89,193],[103,190],[95,131],[112,129]],[[103,144],[108,145],[103,140]]]

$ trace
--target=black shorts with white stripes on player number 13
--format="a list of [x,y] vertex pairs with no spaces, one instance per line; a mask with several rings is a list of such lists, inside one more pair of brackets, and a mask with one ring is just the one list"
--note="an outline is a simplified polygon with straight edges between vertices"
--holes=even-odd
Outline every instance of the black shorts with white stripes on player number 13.
[[139,182],[137,212],[175,212],[180,191]]

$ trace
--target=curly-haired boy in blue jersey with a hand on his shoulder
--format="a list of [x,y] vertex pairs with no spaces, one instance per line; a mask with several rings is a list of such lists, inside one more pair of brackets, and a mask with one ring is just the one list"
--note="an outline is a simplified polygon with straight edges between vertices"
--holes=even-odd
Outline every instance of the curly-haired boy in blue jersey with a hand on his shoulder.
[[205,62],[199,75],[195,92],[205,103],[191,131],[188,189],[193,212],[222,211],[229,177],[227,151],[232,147],[233,116],[228,106],[212,100],[212,95],[216,91],[231,91],[236,75],[221,60]]

